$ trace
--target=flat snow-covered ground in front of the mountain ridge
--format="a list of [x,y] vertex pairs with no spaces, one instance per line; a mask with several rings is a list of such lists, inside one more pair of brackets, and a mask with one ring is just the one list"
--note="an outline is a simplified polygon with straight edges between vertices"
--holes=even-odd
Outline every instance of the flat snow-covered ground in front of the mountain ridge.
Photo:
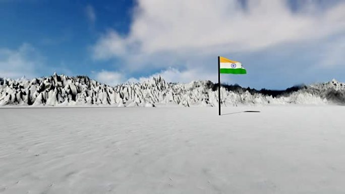
[[345,106],[217,111],[0,108],[0,193],[345,193]]

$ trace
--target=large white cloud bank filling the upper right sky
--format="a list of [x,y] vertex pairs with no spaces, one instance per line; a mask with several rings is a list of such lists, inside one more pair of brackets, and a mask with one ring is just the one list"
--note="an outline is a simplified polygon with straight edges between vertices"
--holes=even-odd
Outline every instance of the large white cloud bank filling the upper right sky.
[[283,0],[248,0],[246,9],[237,0],[139,0],[130,33],[108,31],[94,57],[250,51],[345,30],[345,3],[320,11],[313,2],[293,13]]

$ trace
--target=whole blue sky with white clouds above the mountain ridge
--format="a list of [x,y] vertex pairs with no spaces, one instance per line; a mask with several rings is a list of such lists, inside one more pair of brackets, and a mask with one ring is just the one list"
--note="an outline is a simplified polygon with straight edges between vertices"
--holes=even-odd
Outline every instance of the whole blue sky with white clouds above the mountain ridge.
[[0,0],[0,37],[0,77],[216,81],[222,55],[248,71],[224,83],[345,82],[341,0]]

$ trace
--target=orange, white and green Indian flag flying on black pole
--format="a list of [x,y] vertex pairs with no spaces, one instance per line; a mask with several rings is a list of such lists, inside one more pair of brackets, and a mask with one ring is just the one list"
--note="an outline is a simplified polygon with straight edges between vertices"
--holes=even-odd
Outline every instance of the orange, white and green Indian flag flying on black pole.
[[246,69],[242,67],[242,63],[230,60],[222,56],[219,57],[221,74],[247,74]]

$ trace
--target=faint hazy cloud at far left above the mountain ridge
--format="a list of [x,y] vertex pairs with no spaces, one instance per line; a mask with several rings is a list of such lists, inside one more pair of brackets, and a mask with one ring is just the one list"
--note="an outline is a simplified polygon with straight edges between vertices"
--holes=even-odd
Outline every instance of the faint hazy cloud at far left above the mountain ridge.
[[30,44],[24,43],[16,50],[0,48],[0,77],[35,77],[40,61],[40,55]]

